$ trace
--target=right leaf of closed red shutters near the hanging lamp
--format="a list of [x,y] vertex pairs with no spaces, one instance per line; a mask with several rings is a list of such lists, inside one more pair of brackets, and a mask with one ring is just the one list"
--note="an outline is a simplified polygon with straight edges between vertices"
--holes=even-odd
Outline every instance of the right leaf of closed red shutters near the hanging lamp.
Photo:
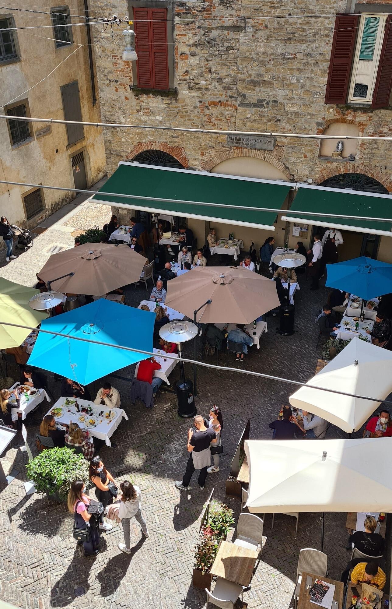
[[169,89],[166,9],[150,9],[152,40],[152,73],[155,89]]

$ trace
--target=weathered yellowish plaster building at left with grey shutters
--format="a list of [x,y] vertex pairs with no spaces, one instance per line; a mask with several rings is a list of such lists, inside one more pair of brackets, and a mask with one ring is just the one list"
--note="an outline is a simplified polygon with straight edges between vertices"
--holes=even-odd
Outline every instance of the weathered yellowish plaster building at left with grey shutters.
[[[1,113],[99,122],[83,0],[60,7],[43,0],[38,13],[25,8],[35,10],[0,10]],[[102,129],[96,127],[2,119],[0,158],[0,179],[15,182],[82,189],[106,174]],[[0,214],[32,228],[74,197],[71,191],[0,185]]]

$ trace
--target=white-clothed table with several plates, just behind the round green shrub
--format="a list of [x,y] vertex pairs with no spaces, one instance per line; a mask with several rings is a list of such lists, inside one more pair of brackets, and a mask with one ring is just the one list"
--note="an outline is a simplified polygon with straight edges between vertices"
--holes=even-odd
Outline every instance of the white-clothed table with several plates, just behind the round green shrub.
[[[46,414],[50,415],[54,408],[62,408],[63,414],[61,414],[60,417],[55,417],[56,423],[59,423],[60,425],[61,425],[61,423],[66,423],[67,425],[69,425],[69,423],[71,423],[71,422],[77,423],[81,429],[86,429],[86,431],[88,431],[90,435],[93,435],[95,438],[99,438],[99,440],[105,440],[106,445],[111,446],[110,438],[116,431],[119,424],[121,423],[122,418],[124,417],[125,419],[128,420],[128,417],[127,417],[127,414],[125,413],[125,411],[122,410],[122,408],[110,409],[107,406],[101,406],[100,404],[94,404],[93,401],[79,400],[79,398],[78,398],[77,403],[79,404],[80,410],[82,410],[82,407],[91,406],[91,409],[93,410],[93,414],[88,415],[83,412],[76,411],[75,398],[68,398],[68,399],[70,401],[73,401],[73,403],[69,404],[69,406],[66,406],[65,405],[66,398],[60,398],[60,400],[57,400],[57,402],[54,404],[54,406],[52,406],[52,408]],[[99,412],[102,412],[102,410],[103,410],[104,414],[102,417],[99,417],[98,416]],[[108,421],[105,418],[105,413],[109,412],[109,410],[116,413],[116,417],[114,417],[110,421]],[[83,417],[83,416],[85,417],[85,421],[80,421],[80,417]],[[90,418],[96,419],[96,421],[97,421],[96,426],[91,427],[88,424],[86,424],[86,422]]]

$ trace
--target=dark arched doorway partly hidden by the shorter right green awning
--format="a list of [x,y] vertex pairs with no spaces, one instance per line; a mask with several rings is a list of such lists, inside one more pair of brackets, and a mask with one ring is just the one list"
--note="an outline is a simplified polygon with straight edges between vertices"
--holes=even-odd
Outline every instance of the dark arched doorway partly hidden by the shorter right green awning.
[[[349,189],[362,192],[375,192],[377,194],[388,194],[387,188],[379,181],[365,174],[337,174],[327,178],[320,183],[327,188]],[[319,227],[316,227],[320,230]],[[327,228],[327,227],[324,227]],[[323,228],[323,230],[324,230]],[[380,236],[370,233],[354,233],[354,231],[341,230],[344,243],[339,246],[339,261],[357,258],[357,256],[368,256],[376,258],[379,248]]]

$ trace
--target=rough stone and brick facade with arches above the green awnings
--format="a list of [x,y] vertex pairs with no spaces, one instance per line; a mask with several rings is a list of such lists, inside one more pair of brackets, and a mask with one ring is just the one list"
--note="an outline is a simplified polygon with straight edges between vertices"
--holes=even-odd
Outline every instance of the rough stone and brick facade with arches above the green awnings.
[[[121,160],[134,160],[146,150],[161,150],[189,169],[312,181],[316,185],[326,180],[329,185],[332,180],[332,184],[337,181],[347,188],[352,188],[354,180],[362,184],[363,189],[392,192],[391,143],[343,141],[341,155],[334,153],[341,135],[392,135],[390,100],[384,107],[375,109],[369,100],[356,102],[347,97],[354,68],[360,65],[355,53],[359,54],[361,27],[365,27],[361,15],[369,14],[376,19],[381,15],[379,38],[374,43],[376,61],[377,45],[383,44],[381,24],[387,19],[383,13],[392,13],[391,3],[384,0],[363,4],[355,0],[326,0],[322,5],[313,0],[90,1],[94,16],[115,13],[137,17],[142,13],[135,13],[135,8],[137,11],[141,6],[166,9],[167,62],[172,65],[173,79],[164,92],[141,88],[137,82],[137,62],[132,66],[122,61],[124,44],[117,46],[108,32],[102,35],[100,28],[94,27],[103,119],[136,125],[132,129],[104,130],[108,174]],[[351,27],[354,32],[352,66],[348,71],[345,103],[341,104],[326,103],[338,14],[358,15],[358,21]],[[369,23],[373,24],[374,20]],[[136,18],[137,35],[138,27],[142,33]],[[361,33],[357,34],[356,30]],[[379,48],[378,52],[381,51]],[[355,66],[354,62],[357,62]],[[370,69],[369,65],[365,64],[366,69]],[[377,72],[377,65],[374,69]],[[384,79],[387,77],[383,74]],[[352,86],[354,84],[356,87],[352,82]],[[337,135],[337,139],[320,144],[317,139],[279,137],[272,150],[261,150],[229,145],[226,135],[145,130],[137,125],[329,133]],[[201,220],[189,220],[200,244],[205,234],[202,224]],[[306,242],[311,237],[310,228]],[[227,232],[225,225],[218,225],[217,229],[218,234]],[[284,222],[278,219],[275,230],[278,244],[284,240],[284,229]],[[251,228],[234,230],[234,233],[243,238],[246,247],[251,241],[259,247],[268,236],[266,231]],[[290,244],[296,239],[291,236]],[[359,255],[365,241],[363,235],[348,235],[346,257]],[[379,257],[392,261],[390,239],[382,237],[376,241]]]

